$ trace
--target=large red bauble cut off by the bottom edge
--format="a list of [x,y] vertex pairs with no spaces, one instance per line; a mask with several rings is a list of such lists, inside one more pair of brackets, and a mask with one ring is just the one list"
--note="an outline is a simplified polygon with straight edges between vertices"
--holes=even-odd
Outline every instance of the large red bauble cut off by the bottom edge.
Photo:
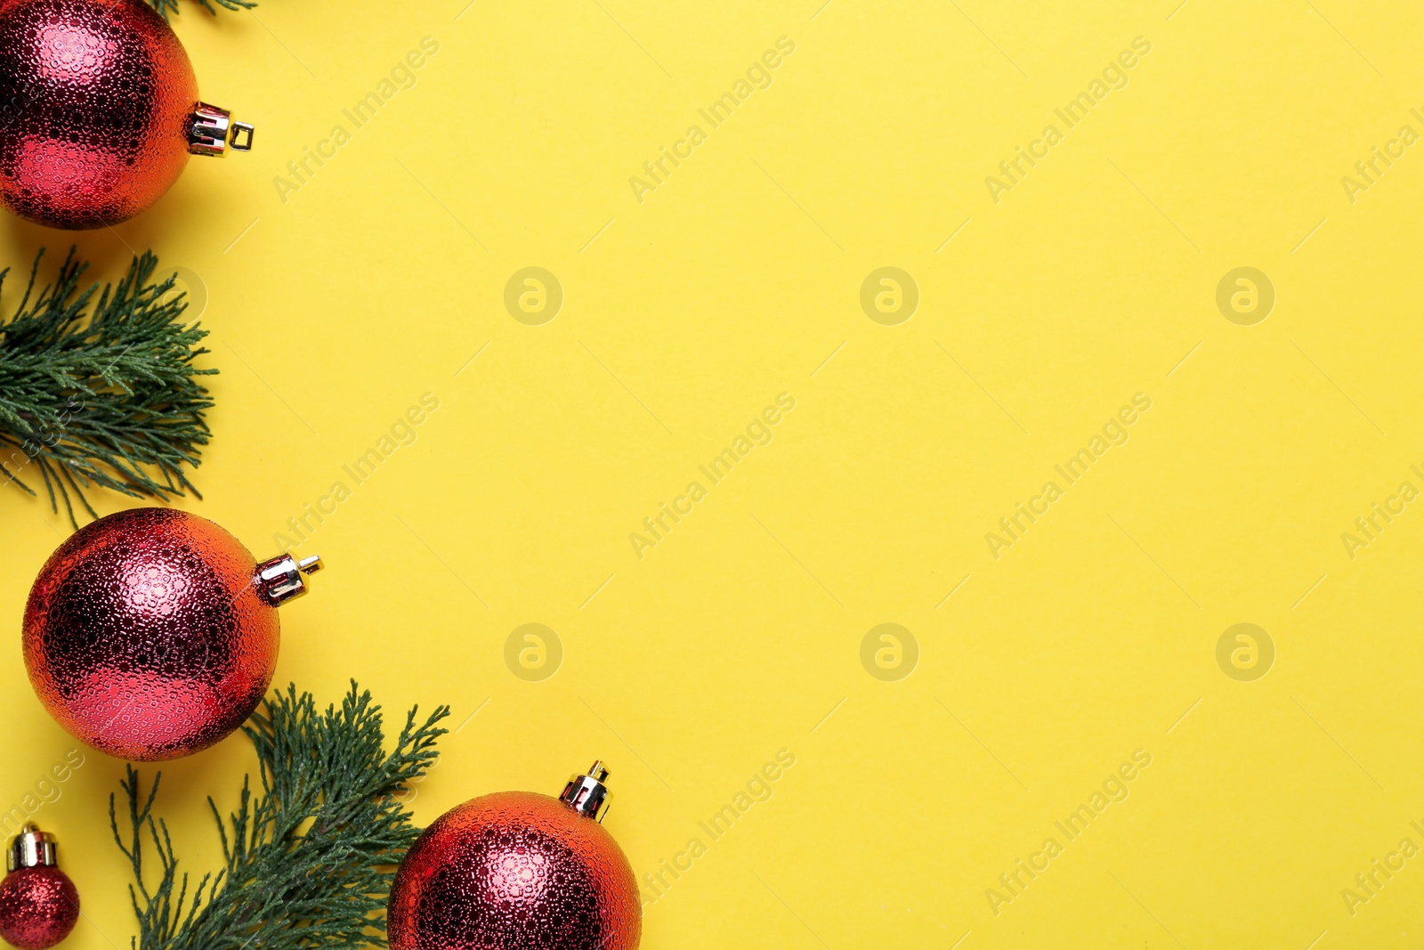
[[392,950],[635,950],[632,867],[602,825],[608,769],[560,798],[484,795],[446,812],[390,887]]

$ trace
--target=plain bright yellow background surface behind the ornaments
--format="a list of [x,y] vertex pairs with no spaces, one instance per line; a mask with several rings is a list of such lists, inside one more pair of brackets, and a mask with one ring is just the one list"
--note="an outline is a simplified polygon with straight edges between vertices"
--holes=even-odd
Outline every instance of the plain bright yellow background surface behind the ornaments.
[[[649,950],[1420,946],[1424,857],[1353,916],[1341,889],[1424,846],[1424,503],[1353,560],[1340,536],[1424,487],[1424,147],[1354,202],[1340,179],[1424,132],[1424,17],[1176,1],[184,0],[202,94],[256,148],[77,235],[98,275],[151,246],[206,295],[215,437],[182,506],[268,555],[440,400],[299,546],[329,570],[283,608],[276,682],[449,702],[422,823],[604,756],[639,877],[793,752],[645,907]],[[783,36],[772,85],[709,130],[698,110]],[[342,110],[423,37],[416,85],[355,128]],[[1134,37],[1129,84],[995,204],[985,177]],[[693,122],[639,204],[629,177]],[[336,124],[350,141],[283,201]],[[20,269],[71,239],[0,234]],[[564,289],[541,326],[503,303],[525,266]],[[896,326],[860,308],[880,266],[920,291]],[[1277,293],[1253,326],[1215,303],[1237,266]],[[629,533],[783,392],[773,442],[639,560]],[[993,558],[985,533],[1139,392],[1131,440]],[[14,489],[0,517],[19,805],[73,745],[17,642],[67,524]],[[525,622],[565,651],[543,682],[504,662]],[[920,647],[897,682],[860,662],[883,622]],[[1255,682],[1216,662],[1237,622],[1276,647]],[[1134,749],[1126,800],[995,914],[985,890]],[[218,853],[202,796],[231,805],[251,766],[242,738],[164,766],[189,870]],[[73,950],[132,933],[121,772],[90,753],[34,816],[83,893]]]

